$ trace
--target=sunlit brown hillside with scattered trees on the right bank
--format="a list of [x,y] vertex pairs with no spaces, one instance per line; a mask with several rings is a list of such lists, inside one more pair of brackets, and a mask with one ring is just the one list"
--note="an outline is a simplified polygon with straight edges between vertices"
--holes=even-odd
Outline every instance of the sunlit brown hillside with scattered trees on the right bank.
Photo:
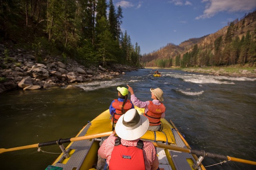
[[144,54],[141,64],[146,67],[222,66],[256,61],[256,11],[236,19],[229,26],[201,38],[191,38],[180,45],[167,44]]

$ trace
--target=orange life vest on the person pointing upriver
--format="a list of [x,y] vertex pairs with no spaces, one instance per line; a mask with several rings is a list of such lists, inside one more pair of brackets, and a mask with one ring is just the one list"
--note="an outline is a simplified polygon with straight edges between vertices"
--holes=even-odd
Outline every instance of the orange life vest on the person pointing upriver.
[[145,113],[145,116],[149,119],[149,125],[160,125],[161,114],[165,112],[165,106],[162,103],[160,105],[153,104],[152,101],[149,101],[149,103],[149,111]]

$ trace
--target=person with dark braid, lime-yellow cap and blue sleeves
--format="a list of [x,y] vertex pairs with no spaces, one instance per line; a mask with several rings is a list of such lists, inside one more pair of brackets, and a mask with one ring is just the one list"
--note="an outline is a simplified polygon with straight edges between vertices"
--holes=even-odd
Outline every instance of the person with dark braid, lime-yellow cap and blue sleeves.
[[112,122],[114,123],[116,123],[120,116],[122,116],[125,112],[134,108],[131,100],[127,99],[129,93],[128,89],[125,87],[117,87],[117,90],[118,99],[114,99],[109,106],[109,113],[112,116]]

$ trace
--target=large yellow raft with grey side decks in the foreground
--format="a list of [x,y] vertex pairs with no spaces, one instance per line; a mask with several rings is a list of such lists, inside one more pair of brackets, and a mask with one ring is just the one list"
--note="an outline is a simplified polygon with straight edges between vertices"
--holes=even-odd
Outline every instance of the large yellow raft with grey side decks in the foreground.
[[[138,107],[135,108],[140,114],[144,113],[144,109]],[[156,143],[191,149],[171,120],[169,123],[167,120],[161,119],[161,122],[163,123],[163,131],[147,131],[142,136],[142,140],[150,140]],[[107,109],[85,125],[76,137],[100,134],[109,131],[112,131],[112,123],[109,109]],[[95,170],[100,141],[100,138],[94,138],[71,142],[65,149],[68,152],[69,157],[64,156],[63,153],[60,154],[53,164],[48,166],[45,170]],[[158,147],[156,148],[156,151],[160,170],[193,169],[193,164],[198,160],[196,155],[185,152]],[[203,170],[205,169],[202,164],[200,164],[200,167]]]

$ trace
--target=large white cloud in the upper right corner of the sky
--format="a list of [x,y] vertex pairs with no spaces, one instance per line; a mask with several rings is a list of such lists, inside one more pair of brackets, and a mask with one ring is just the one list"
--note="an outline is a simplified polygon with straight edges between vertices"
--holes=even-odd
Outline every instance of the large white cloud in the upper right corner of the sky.
[[207,2],[207,4],[203,14],[196,17],[197,20],[211,18],[222,11],[229,13],[250,11],[256,7],[256,0],[202,0],[202,2]]

